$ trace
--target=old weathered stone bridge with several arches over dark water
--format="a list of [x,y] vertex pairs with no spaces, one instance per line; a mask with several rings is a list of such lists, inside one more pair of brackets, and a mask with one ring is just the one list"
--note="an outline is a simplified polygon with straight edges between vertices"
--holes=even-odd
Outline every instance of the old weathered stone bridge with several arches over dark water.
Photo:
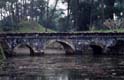
[[123,54],[124,33],[1,33],[0,41],[6,54],[21,45],[30,49],[31,55],[44,53],[47,45],[61,44],[67,54],[92,50],[93,53]]

